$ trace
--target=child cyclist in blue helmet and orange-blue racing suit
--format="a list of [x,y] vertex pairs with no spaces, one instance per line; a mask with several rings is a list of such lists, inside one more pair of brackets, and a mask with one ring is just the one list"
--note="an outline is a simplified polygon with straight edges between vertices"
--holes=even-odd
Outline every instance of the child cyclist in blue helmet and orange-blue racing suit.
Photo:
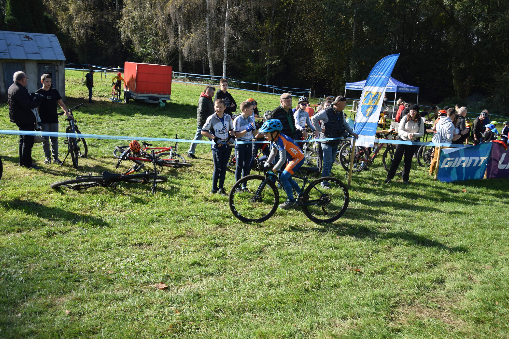
[[292,179],[292,175],[295,171],[298,171],[304,163],[304,153],[302,153],[301,149],[295,144],[292,138],[281,133],[282,128],[283,126],[279,120],[270,119],[263,123],[260,132],[265,133],[265,138],[272,142],[272,150],[270,151],[269,158],[265,162],[266,167],[270,166],[269,164],[274,160],[276,153],[279,152],[279,161],[268,173],[274,175],[274,172],[277,172],[288,160],[285,170],[279,176],[279,180],[288,197],[286,202],[279,205],[279,208],[286,210],[295,207],[297,204],[293,196],[292,187],[297,194],[300,192],[300,187],[295,180]]

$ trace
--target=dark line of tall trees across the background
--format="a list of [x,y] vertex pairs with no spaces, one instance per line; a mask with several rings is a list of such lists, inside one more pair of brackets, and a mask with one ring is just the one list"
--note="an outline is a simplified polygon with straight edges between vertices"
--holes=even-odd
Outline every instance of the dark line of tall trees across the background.
[[[54,19],[68,62],[159,63],[181,72],[312,88],[318,95],[342,93],[346,81],[364,79],[383,56],[400,53],[393,77],[419,86],[427,101],[449,97],[509,107],[507,0],[0,3],[4,29],[17,24],[26,32],[53,33],[48,22]],[[27,11],[33,27],[23,19]]]

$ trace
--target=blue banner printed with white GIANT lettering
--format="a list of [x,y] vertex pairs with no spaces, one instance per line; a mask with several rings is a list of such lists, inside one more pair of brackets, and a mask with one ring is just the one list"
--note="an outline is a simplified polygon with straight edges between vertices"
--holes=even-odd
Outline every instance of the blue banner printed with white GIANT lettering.
[[443,149],[437,179],[442,182],[483,179],[490,152],[491,143]]

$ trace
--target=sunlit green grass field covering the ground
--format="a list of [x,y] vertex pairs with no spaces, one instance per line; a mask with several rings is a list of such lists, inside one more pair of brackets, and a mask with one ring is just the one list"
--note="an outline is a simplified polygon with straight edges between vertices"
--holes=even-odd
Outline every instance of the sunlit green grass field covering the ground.
[[[75,113],[82,133],[192,138],[203,86],[174,83],[162,109],[113,104],[98,75],[95,102]],[[87,101],[80,80],[66,73],[68,107]],[[278,101],[231,93],[238,103],[253,96],[262,111]],[[6,103],[0,116],[0,129],[16,129]],[[44,170],[32,171],[17,165],[17,136],[0,135],[2,338],[509,337],[507,180],[441,183],[415,166],[410,185],[386,185],[377,159],[354,174],[335,223],[278,210],[244,224],[227,197],[209,195],[206,145],[192,167],[165,170],[155,195],[148,185],[50,189],[116,171],[111,152],[126,142],[88,144],[78,171],[70,159],[42,165],[35,146]],[[63,139],[60,150],[63,159]],[[225,187],[233,183],[227,174]]]

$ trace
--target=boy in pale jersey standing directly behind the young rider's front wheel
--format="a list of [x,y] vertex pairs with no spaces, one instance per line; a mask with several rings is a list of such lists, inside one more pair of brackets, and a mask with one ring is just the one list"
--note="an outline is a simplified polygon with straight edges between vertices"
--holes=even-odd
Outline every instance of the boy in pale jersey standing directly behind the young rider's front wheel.
[[[253,144],[251,144],[251,140],[253,139],[253,135],[258,133],[256,123],[254,122],[254,108],[252,102],[242,101],[240,110],[242,114],[233,121],[233,131],[237,138],[237,142],[248,142],[248,144],[235,144],[235,161],[237,163],[237,167],[235,168],[235,181],[249,175],[253,153]],[[242,190],[245,189],[247,189],[246,186],[243,186]]]

